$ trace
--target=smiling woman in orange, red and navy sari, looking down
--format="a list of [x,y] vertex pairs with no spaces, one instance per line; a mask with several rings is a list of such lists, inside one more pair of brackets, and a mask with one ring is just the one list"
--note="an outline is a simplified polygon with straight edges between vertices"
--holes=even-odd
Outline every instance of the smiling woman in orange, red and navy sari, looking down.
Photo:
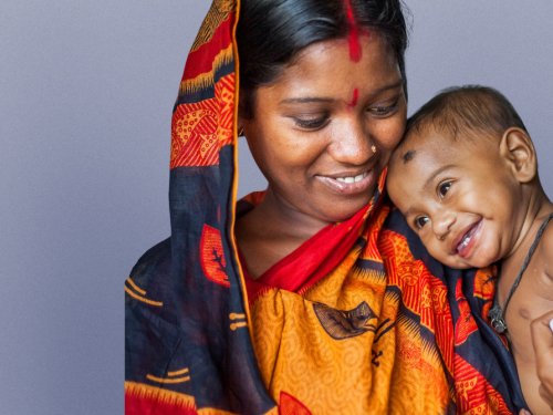
[[[397,0],[213,2],[174,111],[171,238],[125,286],[127,413],[525,407],[482,318],[494,270],[442,267],[383,196],[406,44]],[[269,187],[237,205],[242,129]]]

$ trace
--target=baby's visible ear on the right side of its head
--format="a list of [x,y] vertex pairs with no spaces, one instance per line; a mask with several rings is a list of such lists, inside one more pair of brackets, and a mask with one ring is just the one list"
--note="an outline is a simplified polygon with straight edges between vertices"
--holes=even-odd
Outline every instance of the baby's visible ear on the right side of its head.
[[535,177],[538,159],[534,144],[526,132],[519,127],[507,129],[501,137],[499,149],[520,183],[529,183]]

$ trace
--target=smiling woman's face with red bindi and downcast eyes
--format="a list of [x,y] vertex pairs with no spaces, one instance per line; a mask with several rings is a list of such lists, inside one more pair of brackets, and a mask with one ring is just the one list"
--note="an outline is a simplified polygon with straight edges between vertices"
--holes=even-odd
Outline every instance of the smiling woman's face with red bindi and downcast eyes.
[[[407,105],[397,62],[377,35],[313,43],[257,90],[239,120],[253,158],[283,206],[334,222],[366,206],[401,138]],[[376,149],[376,152],[374,152]]]

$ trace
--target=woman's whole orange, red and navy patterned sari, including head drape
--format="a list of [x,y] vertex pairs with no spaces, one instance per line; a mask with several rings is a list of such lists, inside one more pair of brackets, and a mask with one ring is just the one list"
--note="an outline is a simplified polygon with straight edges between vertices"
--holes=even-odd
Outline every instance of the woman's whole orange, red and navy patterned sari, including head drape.
[[239,0],[216,0],[171,123],[171,237],[125,282],[126,414],[517,414],[495,267],[432,259],[385,195],[257,280],[240,264]]

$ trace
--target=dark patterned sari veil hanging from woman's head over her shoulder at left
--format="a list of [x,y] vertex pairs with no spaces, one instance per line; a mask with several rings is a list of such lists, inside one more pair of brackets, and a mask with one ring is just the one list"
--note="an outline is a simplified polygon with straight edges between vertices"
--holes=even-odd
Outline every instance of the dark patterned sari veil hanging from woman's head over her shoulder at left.
[[171,238],[140,258],[125,286],[129,413],[274,407],[250,334],[236,330],[247,313],[231,236],[237,18],[236,1],[213,1],[192,44],[171,123]]

